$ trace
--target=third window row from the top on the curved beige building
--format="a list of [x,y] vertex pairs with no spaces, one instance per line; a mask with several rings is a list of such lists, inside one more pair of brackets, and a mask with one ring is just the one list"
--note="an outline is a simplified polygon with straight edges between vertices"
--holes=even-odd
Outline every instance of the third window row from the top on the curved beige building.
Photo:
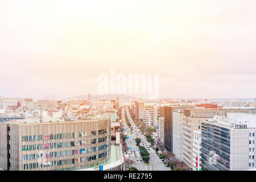
[[[108,148],[108,146],[106,144],[102,146],[98,146],[98,151],[103,150],[102,148],[106,149]],[[57,152],[48,152],[48,153],[39,152],[38,154],[22,155],[22,160],[48,159],[48,158],[77,155],[77,154],[89,154],[90,152],[97,152],[97,148],[96,147],[92,147],[90,149],[81,148],[80,150],[67,150],[67,151],[57,151]]]

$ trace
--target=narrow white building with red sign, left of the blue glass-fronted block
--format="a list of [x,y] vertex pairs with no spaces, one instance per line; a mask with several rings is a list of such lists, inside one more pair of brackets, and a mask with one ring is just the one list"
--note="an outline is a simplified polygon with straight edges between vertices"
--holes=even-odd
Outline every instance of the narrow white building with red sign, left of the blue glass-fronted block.
[[201,131],[194,131],[193,137],[193,160],[192,169],[193,171],[201,171]]

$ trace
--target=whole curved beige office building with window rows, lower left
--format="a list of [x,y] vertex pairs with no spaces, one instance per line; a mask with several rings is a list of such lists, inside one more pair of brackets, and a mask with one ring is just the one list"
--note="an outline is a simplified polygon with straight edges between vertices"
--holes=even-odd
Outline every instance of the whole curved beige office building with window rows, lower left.
[[75,170],[108,163],[110,119],[0,123],[0,168]]

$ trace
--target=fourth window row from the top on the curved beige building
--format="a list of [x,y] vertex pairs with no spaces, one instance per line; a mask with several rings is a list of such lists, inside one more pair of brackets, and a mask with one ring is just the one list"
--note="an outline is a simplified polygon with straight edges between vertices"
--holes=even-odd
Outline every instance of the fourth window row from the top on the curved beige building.
[[52,167],[52,166],[61,166],[65,164],[75,164],[75,163],[84,163],[89,162],[91,160],[96,160],[100,158],[104,158],[107,153],[104,152],[102,154],[93,155],[89,157],[82,157],[82,158],[74,158],[74,159],[64,159],[64,160],[52,160],[50,162],[44,162],[44,163],[30,163],[30,164],[23,164],[22,169],[35,169],[35,168],[42,168],[42,167]]

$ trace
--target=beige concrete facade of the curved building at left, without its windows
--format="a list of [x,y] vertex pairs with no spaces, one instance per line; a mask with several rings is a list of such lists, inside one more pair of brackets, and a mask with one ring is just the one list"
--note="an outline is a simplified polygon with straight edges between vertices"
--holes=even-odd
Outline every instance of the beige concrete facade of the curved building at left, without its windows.
[[[5,122],[7,124],[7,122]],[[5,131],[6,125],[3,123],[1,127],[1,134],[2,131]],[[2,123],[1,123],[2,124]],[[59,170],[59,169],[79,169],[79,168],[86,168],[86,167],[93,167],[96,164],[100,164],[105,162],[105,160],[109,159],[110,155],[110,120],[105,119],[101,121],[76,121],[76,122],[52,122],[52,123],[24,123],[24,124],[17,124],[17,123],[8,123],[10,126],[10,170],[23,170],[24,164],[27,167],[27,164],[40,163],[39,159],[24,159],[26,155],[34,155],[36,154],[43,154],[43,155],[50,155],[52,152],[62,152],[64,154],[65,151],[75,151],[75,155],[62,155],[62,156],[52,156],[51,158],[42,158],[42,161],[47,165],[47,167],[39,167],[39,168],[31,168],[25,170]],[[106,130],[104,134],[98,134],[100,130]],[[18,131],[18,132],[17,132]],[[95,135],[92,131],[96,131]],[[54,139],[50,138],[54,135],[62,134],[62,136],[67,135],[71,136],[71,138],[61,138],[61,139]],[[83,134],[83,135],[82,135]],[[39,136],[42,138],[40,140],[23,140],[23,137],[30,138],[35,136]],[[72,137],[73,136],[73,137]],[[105,138],[105,142],[100,142],[101,138]],[[94,142],[94,139],[96,143]],[[23,140],[23,141],[22,141]],[[0,138],[1,145],[5,145],[6,138]],[[84,141],[84,142],[83,142]],[[73,146],[65,146],[64,143],[71,142]],[[62,147],[52,147],[54,143],[63,143]],[[108,148],[98,150],[98,147],[107,145]],[[37,145],[41,146],[41,148],[36,148]],[[26,146],[30,150],[27,150]],[[34,146],[35,149],[31,146]],[[49,147],[51,146],[51,147]],[[96,150],[94,151],[94,147]],[[1,147],[2,148],[2,147]],[[26,150],[24,150],[26,148]],[[80,150],[82,148],[85,149],[85,154],[80,154]],[[89,152],[90,151],[90,152]],[[106,156],[103,158],[98,158],[99,154],[106,152]],[[5,159],[5,149],[1,151],[1,164],[3,164],[2,168],[6,168]],[[53,154],[53,153],[52,153]],[[86,157],[89,158],[90,156],[96,155],[95,160],[86,161]],[[85,158],[84,162],[80,162],[80,158]],[[71,159],[75,161],[72,164],[62,164],[59,166],[52,165],[54,161],[64,161],[65,159]],[[3,162],[2,162],[3,161]]]

